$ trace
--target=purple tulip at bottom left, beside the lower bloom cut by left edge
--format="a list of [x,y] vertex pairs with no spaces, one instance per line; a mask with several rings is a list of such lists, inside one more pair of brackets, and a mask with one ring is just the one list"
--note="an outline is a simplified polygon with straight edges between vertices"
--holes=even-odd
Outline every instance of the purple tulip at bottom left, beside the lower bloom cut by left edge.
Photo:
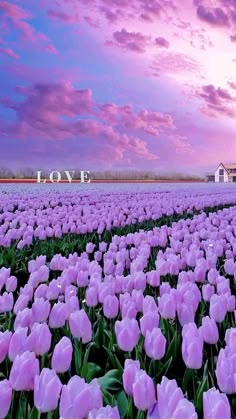
[[39,375],[39,361],[34,352],[26,351],[17,355],[10,372],[10,384],[16,391],[34,389],[34,377]]

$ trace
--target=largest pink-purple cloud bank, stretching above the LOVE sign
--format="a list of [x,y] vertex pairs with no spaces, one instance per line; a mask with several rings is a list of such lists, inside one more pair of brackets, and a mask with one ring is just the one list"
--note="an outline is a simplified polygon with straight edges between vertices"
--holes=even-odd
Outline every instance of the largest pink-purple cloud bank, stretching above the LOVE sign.
[[168,114],[147,110],[136,114],[130,105],[98,105],[90,90],[74,89],[70,83],[18,87],[17,93],[24,97],[23,101],[1,100],[3,106],[16,112],[17,122],[4,130],[16,138],[86,138],[91,149],[93,142],[96,150],[112,145],[118,159],[130,154],[154,160],[157,154],[149,150],[146,140],[135,131],[157,137],[163,130],[174,127]]

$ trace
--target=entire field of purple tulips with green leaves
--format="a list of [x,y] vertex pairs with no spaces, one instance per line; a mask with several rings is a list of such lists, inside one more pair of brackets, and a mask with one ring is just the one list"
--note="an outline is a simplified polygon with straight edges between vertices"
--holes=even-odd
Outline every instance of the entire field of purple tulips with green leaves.
[[0,419],[236,417],[232,187],[0,198]]

